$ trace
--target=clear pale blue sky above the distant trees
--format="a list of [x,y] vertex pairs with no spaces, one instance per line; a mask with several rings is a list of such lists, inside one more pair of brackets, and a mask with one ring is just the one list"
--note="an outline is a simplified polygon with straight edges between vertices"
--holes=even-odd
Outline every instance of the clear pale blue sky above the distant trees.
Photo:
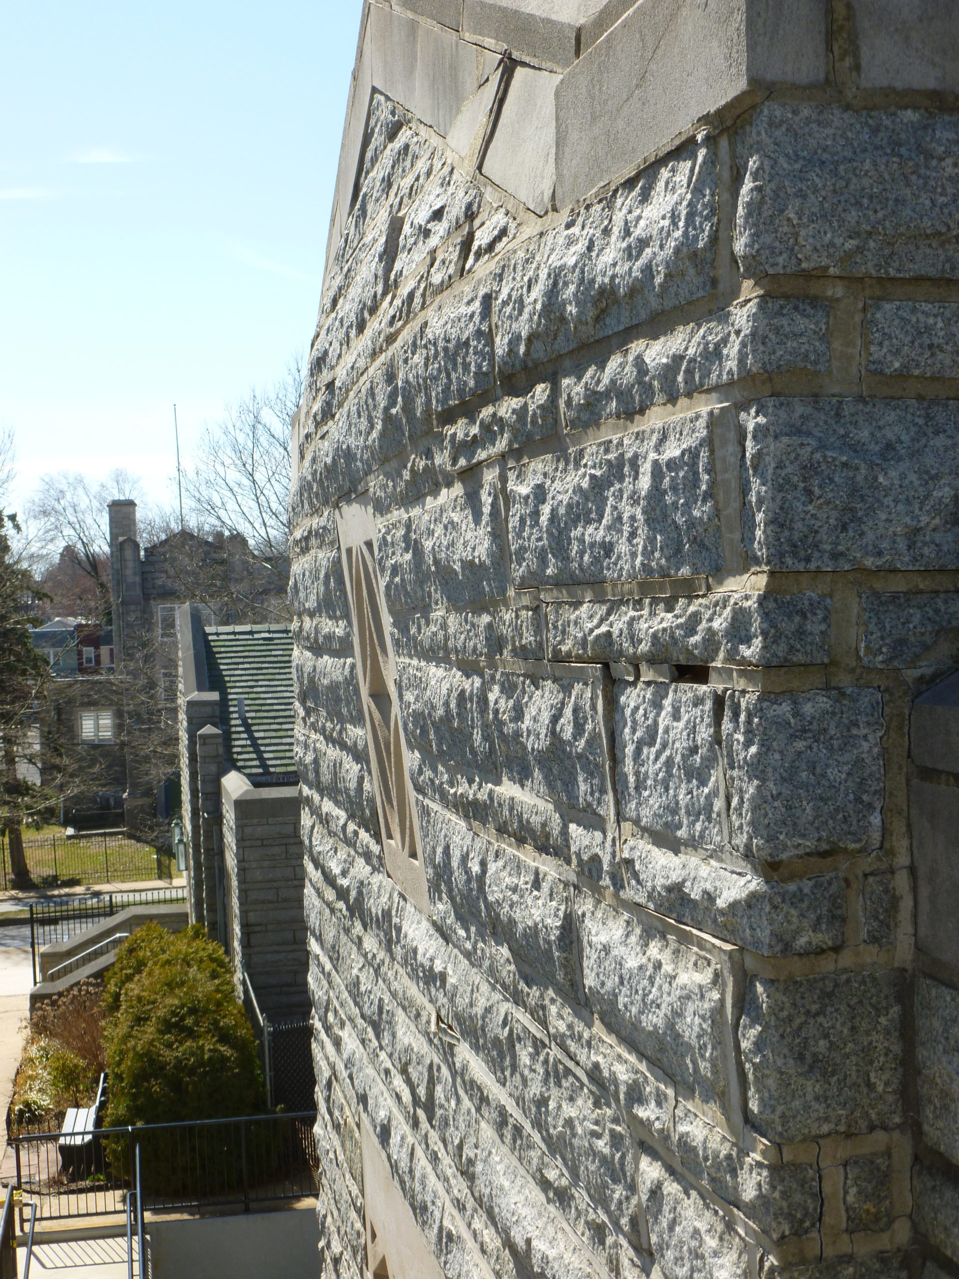
[[0,423],[169,499],[312,335],[361,0],[0,6]]

